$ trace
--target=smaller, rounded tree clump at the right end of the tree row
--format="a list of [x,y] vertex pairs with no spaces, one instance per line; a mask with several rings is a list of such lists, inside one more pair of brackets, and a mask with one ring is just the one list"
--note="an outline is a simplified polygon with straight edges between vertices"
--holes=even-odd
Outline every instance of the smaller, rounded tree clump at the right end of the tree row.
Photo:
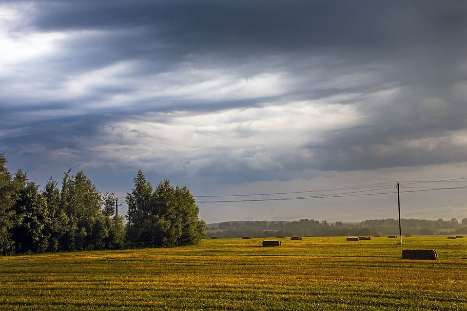
[[199,243],[205,235],[205,222],[198,219],[199,208],[186,186],[161,181],[152,191],[142,170],[134,177],[134,188],[127,194],[127,239],[135,246],[177,246]]

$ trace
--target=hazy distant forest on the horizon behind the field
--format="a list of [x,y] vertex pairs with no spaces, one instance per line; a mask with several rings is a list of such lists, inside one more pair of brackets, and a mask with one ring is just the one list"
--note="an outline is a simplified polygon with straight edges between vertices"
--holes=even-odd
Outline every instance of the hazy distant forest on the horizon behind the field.
[[[451,220],[401,219],[402,235],[467,234],[467,218]],[[297,221],[226,221],[208,224],[206,237],[398,235],[397,219],[372,219],[360,223],[328,223],[314,219]]]

